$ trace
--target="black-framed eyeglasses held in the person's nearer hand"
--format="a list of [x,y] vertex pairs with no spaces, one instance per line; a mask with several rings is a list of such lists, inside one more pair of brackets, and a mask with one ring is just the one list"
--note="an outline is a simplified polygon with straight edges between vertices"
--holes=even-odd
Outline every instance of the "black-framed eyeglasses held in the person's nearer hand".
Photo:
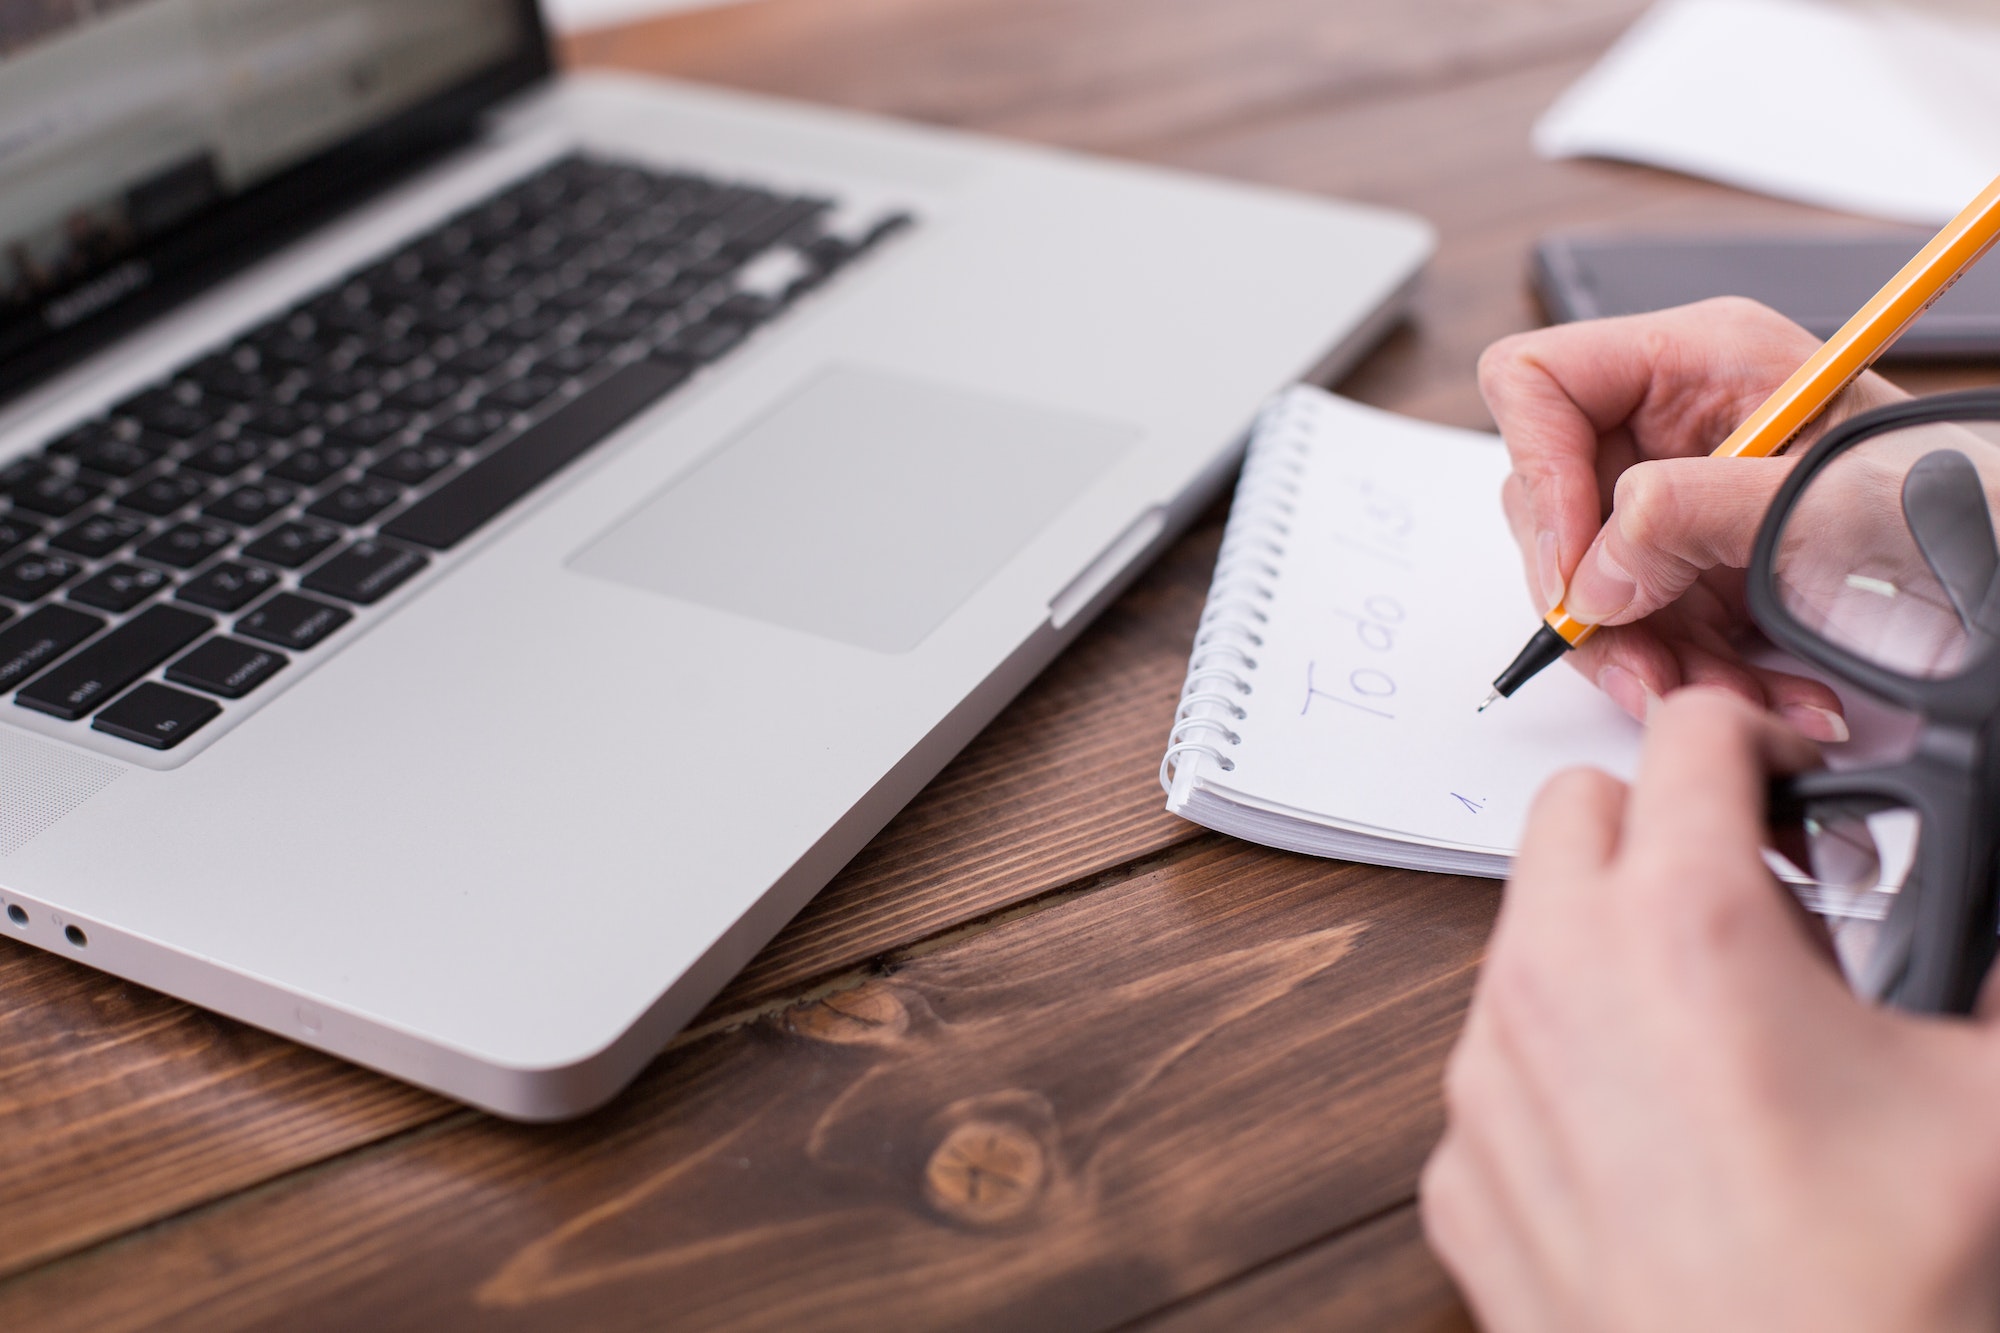
[[1850,985],[1968,1013],[2000,931],[2000,390],[1916,398],[1820,438],[1750,558],[1782,648],[1914,715],[1896,763],[1774,783],[1780,853]]

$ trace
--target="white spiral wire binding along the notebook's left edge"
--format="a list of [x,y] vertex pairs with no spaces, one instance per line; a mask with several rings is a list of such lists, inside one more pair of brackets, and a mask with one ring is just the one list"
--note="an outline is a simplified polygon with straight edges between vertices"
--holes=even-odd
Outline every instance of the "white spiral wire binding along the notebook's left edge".
[[1264,646],[1260,628],[1270,620],[1264,602],[1276,596],[1300,476],[1312,452],[1310,422],[1302,410],[1308,404],[1292,394],[1276,398],[1250,432],[1230,520],[1222,528],[1222,550],[1216,552],[1216,576],[1194,630],[1188,679],[1166,735],[1166,755],[1160,757],[1160,787],[1168,793],[1182,757],[1206,755],[1224,773],[1236,767],[1228,747],[1240,745],[1242,735],[1232,723],[1250,717],[1244,701],[1256,693],[1256,650]]

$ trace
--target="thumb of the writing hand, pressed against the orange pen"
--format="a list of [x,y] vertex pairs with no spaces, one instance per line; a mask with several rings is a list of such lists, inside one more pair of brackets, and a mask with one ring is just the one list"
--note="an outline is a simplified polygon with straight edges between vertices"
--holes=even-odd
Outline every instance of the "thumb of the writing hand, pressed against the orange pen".
[[1612,516],[1578,560],[1564,608],[1628,624],[1688,590],[1702,570],[1744,568],[1792,458],[1658,458],[1618,478]]

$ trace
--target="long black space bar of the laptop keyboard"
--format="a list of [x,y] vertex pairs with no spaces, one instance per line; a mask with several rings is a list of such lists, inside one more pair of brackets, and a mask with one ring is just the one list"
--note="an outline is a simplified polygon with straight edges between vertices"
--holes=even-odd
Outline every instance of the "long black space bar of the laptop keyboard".
[[684,366],[634,360],[382,526],[386,536],[450,550],[688,378]]

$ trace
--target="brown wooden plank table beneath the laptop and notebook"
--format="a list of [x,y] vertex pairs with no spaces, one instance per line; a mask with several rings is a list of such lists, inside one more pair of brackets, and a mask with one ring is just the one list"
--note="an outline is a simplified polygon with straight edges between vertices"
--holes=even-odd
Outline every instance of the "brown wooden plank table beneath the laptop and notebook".
[[[1852,226],[1530,156],[1638,8],[760,0],[570,56],[1428,214],[1416,316],[1344,390],[1484,426],[1538,232]],[[1162,813],[1220,518],[584,1121],[0,943],[0,1327],[1464,1325],[1412,1195],[1498,887]]]

